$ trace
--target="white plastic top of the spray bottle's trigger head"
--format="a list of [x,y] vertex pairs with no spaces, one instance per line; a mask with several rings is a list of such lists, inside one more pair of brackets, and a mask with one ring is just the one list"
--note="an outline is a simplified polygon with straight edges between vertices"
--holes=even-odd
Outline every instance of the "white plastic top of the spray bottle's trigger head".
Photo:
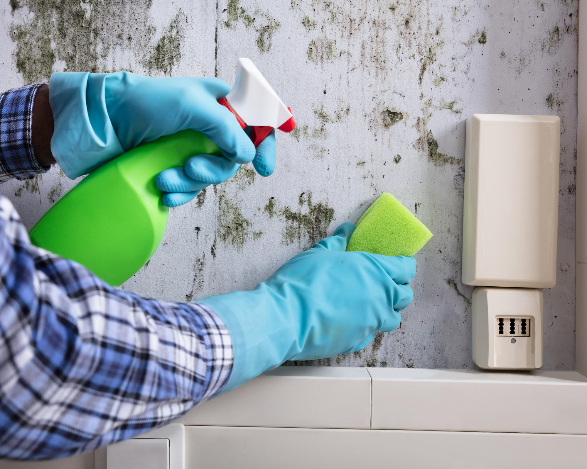
[[251,59],[238,59],[237,79],[226,100],[247,125],[278,128],[292,118]]

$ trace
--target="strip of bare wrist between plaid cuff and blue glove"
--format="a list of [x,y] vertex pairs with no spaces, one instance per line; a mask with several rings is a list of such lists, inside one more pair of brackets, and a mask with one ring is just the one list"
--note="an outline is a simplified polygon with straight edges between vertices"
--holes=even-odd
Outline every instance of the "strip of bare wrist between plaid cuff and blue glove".
[[33,148],[41,166],[49,166],[56,162],[51,153],[53,127],[53,111],[49,104],[49,85],[44,84],[35,94],[32,122]]

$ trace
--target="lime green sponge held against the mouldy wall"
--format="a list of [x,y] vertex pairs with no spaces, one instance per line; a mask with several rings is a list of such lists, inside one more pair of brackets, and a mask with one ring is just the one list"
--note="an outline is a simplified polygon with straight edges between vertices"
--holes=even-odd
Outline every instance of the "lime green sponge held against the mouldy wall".
[[430,230],[387,192],[371,204],[355,226],[347,251],[409,257],[432,237]]

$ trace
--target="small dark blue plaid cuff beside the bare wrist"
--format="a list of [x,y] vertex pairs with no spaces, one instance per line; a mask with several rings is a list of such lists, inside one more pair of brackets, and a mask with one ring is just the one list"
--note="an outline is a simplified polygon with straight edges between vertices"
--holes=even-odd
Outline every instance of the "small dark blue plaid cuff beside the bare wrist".
[[43,84],[0,93],[0,182],[31,179],[49,171],[50,166],[39,165],[32,140],[33,103]]

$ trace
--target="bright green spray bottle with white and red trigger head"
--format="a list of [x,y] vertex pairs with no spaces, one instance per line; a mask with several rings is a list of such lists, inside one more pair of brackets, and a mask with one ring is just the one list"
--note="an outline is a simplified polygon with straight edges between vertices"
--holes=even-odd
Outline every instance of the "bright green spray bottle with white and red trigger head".
[[[291,110],[249,59],[238,59],[237,79],[218,100],[242,128],[252,126],[257,147],[272,128],[295,128]],[[201,132],[183,130],[139,145],[100,166],[66,193],[32,227],[31,242],[72,259],[112,286],[132,277],[163,239],[169,209],[155,186],[164,169],[193,155],[221,155]]]

